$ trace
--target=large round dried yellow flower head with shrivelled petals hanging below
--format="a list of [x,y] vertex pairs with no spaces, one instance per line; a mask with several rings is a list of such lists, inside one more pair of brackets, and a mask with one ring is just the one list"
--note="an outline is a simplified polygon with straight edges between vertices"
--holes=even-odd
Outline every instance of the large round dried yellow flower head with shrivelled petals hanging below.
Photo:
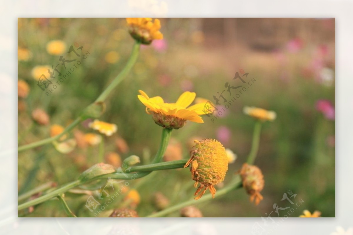
[[195,198],[200,199],[207,189],[210,189],[212,197],[215,196],[214,185],[221,183],[228,170],[227,153],[223,145],[213,139],[205,139],[201,142],[195,140],[195,146],[190,151],[190,159],[184,167],[190,165],[192,179],[195,180]]

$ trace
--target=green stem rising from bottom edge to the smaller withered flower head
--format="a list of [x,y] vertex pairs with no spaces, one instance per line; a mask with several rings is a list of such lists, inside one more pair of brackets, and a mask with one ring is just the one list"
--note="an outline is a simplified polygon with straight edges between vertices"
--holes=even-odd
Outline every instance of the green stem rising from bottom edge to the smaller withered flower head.
[[[241,187],[241,180],[240,180],[240,177],[237,176],[235,178],[235,180],[233,180],[233,182],[231,184],[229,184],[228,186],[226,186],[225,188],[223,188],[221,190],[218,190],[216,192],[215,198],[221,197],[221,196],[225,195],[226,193],[228,193],[228,192],[230,192],[230,191],[232,191],[234,189],[238,189],[240,187]],[[202,198],[200,198],[198,200],[191,199],[189,201],[179,203],[177,205],[174,205],[172,207],[166,208],[164,210],[161,210],[161,211],[159,211],[157,213],[151,214],[151,215],[146,216],[146,217],[162,217],[162,216],[170,214],[170,213],[172,213],[174,211],[180,210],[183,207],[187,207],[187,206],[190,206],[190,205],[196,205],[196,204],[199,204],[199,203],[202,203],[202,202],[209,201],[210,199],[212,199],[211,193],[202,196]]]

